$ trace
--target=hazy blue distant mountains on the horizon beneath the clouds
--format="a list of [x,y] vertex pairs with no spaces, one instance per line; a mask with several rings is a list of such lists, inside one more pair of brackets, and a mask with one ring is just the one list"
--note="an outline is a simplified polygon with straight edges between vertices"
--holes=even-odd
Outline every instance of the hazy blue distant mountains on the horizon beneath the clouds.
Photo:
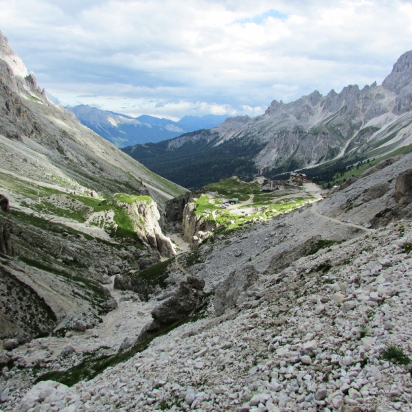
[[67,110],[74,113],[84,126],[91,128],[118,148],[159,142],[194,130],[214,128],[227,119],[226,115],[185,116],[179,122],[173,122],[148,115],[130,117],[87,104],[67,107]]

